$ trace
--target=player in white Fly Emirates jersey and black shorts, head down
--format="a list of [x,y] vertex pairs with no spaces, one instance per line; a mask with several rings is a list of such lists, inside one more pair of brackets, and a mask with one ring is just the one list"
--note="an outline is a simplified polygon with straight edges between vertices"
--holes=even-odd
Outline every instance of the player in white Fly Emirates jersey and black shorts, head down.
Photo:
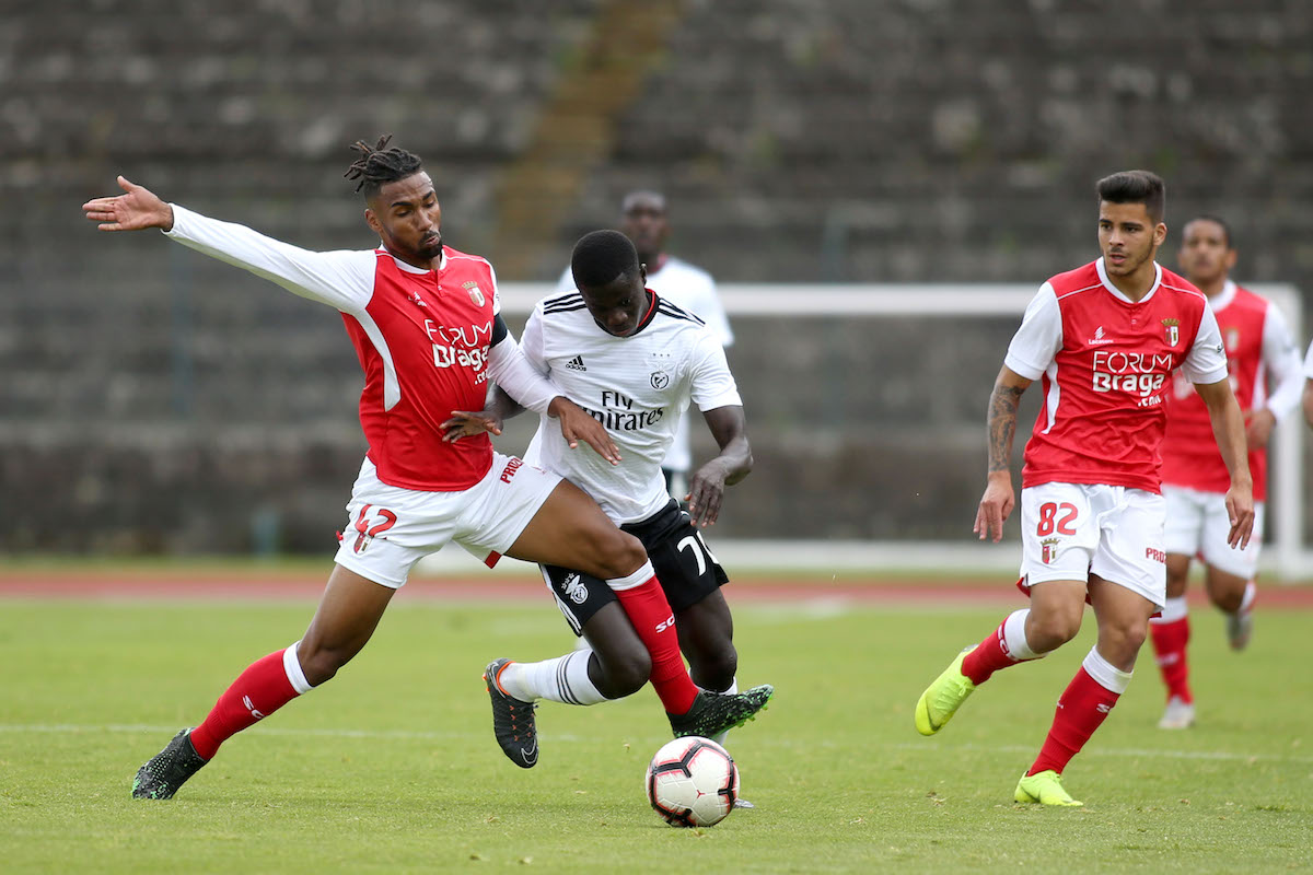
[[[720,590],[729,577],[695,527],[716,522],[725,487],[752,468],[743,405],[725,350],[697,316],[645,287],[634,245],[618,231],[595,231],[579,240],[571,275],[571,291],[534,308],[521,345],[544,376],[607,428],[622,460],[600,464],[595,457],[570,453],[544,420],[525,462],[580,487],[645,544],[674,610],[693,681],[706,690],[734,693],[734,623]],[[691,403],[702,412],[721,451],[692,478],[684,512],[666,492],[660,462]],[[521,409],[498,391],[486,411],[461,413],[465,426],[450,437],[484,429],[500,433],[503,420]],[[591,649],[541,662],[490,664],[494,729],[508,699],[532,715],[538,699],[596,704],[629,695],[643,682],[646,652],[611,588],[570,567],[544,564],[542,576]],[[764,703],[769,693],[762,686],[744,695]]]

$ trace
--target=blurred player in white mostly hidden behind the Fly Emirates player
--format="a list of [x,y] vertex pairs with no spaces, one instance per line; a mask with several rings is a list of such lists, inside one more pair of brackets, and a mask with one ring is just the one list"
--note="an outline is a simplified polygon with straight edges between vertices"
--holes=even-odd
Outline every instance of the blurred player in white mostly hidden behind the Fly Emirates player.
[[[670,237],[666,195],[647,190],[626,194],[620,205],[620,230],[638,251],[638,262],[647,272],[647,287],[663,300],[701,319],[721,346],[729,349],[734,344],[734,332],[730,331],[712,274],[666,252],[666,240]],[[574,275],[567,266],[557,283],[557,291],[574,290]],[[666,491],[676,501],[683,501],[688,495],[688,472],[693,468],[691,416],[679,417],[675,437],[660,466]]]

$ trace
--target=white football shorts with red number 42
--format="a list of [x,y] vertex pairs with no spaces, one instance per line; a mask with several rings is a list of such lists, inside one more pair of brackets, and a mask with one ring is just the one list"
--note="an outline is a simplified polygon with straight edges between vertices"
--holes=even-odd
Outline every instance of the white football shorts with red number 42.
[[559,475],[494,453],[492,467],[469,489],[420,492],[381,481],[366,457],[334,561],[397,589],[415,563],[453,540],[479,560],[504,554],[558,483]]

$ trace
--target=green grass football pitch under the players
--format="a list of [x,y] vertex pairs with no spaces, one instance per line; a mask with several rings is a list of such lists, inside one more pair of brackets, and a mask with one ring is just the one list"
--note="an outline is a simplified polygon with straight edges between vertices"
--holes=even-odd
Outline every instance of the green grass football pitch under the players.
[[[727,590],[731,602],[733,586]],[[1083,809],[1012,803],[1053,703],[1092,641],[999,673],[937,737],[913,706],[998,606],[735,603],[744,686],[776,698],[731,733],[743,796],[679,830],[642,777],[668,739],[650,689],[544,703],[541,761],[492,740],[479,674],[572,643],[542,594],[399,600],[332,682],[228,741],[172,802],[137,767],[200,720],[311,600],[0,600],[0,868],[7,872],[1308,871],[1313,686],[1308,609],[1258,611],[1249,651],[1194,611],[1199,725],[1154,727],[1152,656],[1069,766]]]

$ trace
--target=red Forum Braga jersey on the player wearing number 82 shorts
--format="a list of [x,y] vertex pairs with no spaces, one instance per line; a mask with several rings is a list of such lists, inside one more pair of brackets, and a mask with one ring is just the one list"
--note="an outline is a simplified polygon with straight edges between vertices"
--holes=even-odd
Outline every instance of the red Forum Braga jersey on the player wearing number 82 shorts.
[[1226,357],[1204,295],[1154,268],[1154,285],[1138,302],[1108,281],[1100,258],[1049,279],[1027,308],[1004,359],[1022,376],[1043,376],[1023,487],[1159,491],[1171,373],[1184,366],[1194,382],[1217,382],[1226,376]]

